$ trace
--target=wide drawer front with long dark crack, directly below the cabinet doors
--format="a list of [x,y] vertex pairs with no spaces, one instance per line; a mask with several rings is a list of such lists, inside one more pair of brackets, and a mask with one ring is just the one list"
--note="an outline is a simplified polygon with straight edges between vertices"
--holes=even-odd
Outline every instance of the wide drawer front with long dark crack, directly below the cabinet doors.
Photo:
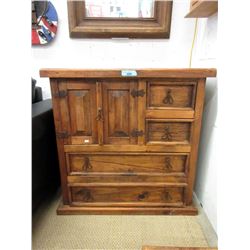
[[68,153],[69,174],[168,174],[186,171],[188,154],[86,154]]

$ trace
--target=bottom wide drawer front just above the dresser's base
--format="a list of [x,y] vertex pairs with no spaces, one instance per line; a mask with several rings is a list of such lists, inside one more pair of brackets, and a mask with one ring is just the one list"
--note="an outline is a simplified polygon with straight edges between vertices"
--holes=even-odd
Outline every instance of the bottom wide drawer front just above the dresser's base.
[[[148,205],[152,203],[183,204],[183,187],[129,187],[129,186],[91,186],[70,187],[71,202],[84,203],[107,203],[135,205]],[[159,205],[160,205],[159,204]],[[162,204],[161,204],[162,205]]]

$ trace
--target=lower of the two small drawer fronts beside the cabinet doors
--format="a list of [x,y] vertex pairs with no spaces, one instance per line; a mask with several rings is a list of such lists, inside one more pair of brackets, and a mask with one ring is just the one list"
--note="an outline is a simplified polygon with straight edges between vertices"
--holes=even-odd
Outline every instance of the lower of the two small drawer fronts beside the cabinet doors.
[[190,143],[191,122],[171,120],[147,120],[148,143]]

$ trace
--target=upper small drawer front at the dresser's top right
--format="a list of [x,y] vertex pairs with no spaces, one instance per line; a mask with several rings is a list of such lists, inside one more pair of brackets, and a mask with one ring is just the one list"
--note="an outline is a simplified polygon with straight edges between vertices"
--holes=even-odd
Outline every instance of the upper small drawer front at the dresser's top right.
[[194,108],[196,83],[148,82],[148,108]]

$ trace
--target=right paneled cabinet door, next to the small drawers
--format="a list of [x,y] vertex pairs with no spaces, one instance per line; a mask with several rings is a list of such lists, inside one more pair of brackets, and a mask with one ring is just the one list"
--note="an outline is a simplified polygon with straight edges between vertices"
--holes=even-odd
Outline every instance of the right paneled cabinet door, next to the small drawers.
[[104,144],[137,144],[138,98],[136,81],[104,81]]

